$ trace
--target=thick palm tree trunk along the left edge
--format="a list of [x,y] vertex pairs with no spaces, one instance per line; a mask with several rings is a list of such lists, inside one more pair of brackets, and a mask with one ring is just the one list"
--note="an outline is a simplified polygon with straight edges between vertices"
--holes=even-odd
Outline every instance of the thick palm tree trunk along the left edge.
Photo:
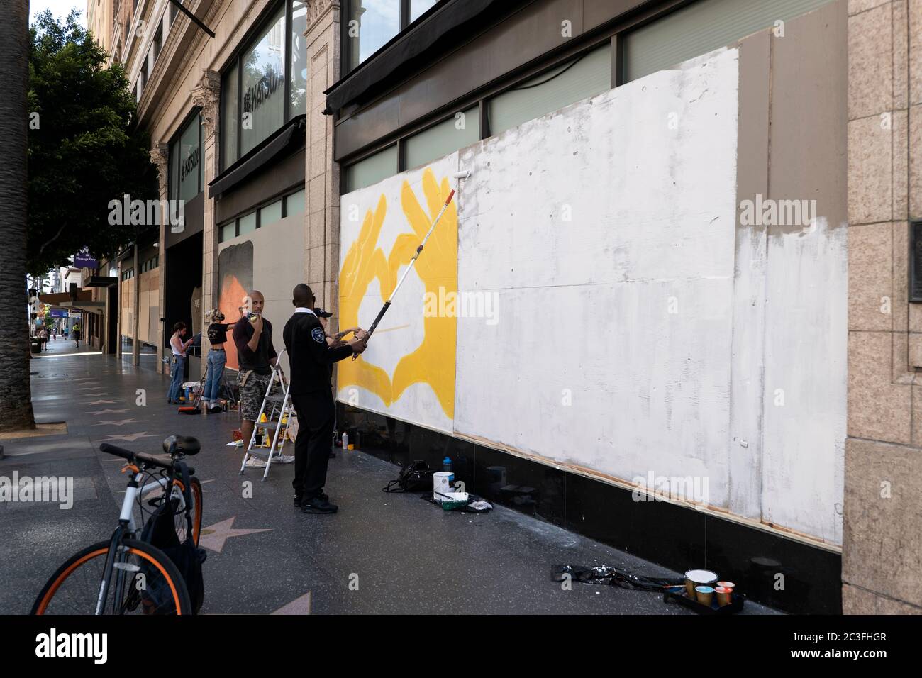
[[26,291],[29,0],[0,6],[0,431],[9,431],[35,428]]

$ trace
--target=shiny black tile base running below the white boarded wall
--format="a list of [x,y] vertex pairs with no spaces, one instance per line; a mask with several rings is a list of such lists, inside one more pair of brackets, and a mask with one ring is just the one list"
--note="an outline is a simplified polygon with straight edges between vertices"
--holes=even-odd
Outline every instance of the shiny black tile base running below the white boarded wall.
[[777,610],[842,613],[839,553],[686,506],[638,502],[617,485],[342,403],[337,421],[362,452],[398,465],[422,459],[441,470],[450,457],[456,480],[488,501],[679,572],[714,570]]

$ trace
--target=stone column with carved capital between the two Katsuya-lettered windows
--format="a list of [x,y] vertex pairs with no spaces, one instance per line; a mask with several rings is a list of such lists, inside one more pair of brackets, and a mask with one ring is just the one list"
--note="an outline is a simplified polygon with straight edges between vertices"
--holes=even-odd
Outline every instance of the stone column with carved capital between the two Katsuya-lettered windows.
[[[219,112],[221,77],[219,73],[205,70],[198,85],[192,90],[192,103],[202,113],[202,150],[205,175],[205,223],[202,232],[202,312],[208,313],[218,305],[218,228],[215,223],[214,198],[208,195],[208,184],[218,176],[219,167]],[[203,318],[202,327],[210,320]],[[202,375],[207,369],[207,351],[210,348],[207,332],[202,332]]]

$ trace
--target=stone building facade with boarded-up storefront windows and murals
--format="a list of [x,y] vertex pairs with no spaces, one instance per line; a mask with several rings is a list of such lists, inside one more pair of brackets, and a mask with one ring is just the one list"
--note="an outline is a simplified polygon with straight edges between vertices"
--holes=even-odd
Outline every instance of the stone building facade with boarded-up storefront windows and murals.
[[367,327],[454,189],[337,368],[350,440],[780,609],[922,610],[918,0],[188,8],[214,38],[112,9],[166,206],[123,336],[251,289],[280,329],[301,281]]

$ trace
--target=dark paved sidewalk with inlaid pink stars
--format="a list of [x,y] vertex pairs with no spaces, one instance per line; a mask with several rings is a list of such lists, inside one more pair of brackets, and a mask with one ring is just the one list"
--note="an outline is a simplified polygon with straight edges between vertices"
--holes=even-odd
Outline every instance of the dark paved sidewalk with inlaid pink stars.
[[[204,489],[203,613],[691,614],[656,593],[561,590],[550,580],[551,566],[561,563],[679,575],[502,506],[462,515],[416,495],[384,494],[396,466],[361,452],[337,451],[330,460],[326,492],[339,513],[301,514],[291,506],[293,465],[274,465],[266,482],[262,470],[239,475],[242,453],[225,446],[235,412],[177,414],[166,405],[166,377],[64,349],[31,369],[39,373],[36,419],[65,420],[67,433],[4,441],[0,476],[73,476],[75,503],[69,510],[0,504],[0,612],[28,613],[65,558],[114,529],[126,478],[121,459],[100,453],[100,442],[160,453],[166,435],[186,434],[202,442],[191,464]],[[146,405],[136,404],[139,394]],[[252,482],[252,498],[242,482]],[[747,612],[772,613],[751,603]]]

